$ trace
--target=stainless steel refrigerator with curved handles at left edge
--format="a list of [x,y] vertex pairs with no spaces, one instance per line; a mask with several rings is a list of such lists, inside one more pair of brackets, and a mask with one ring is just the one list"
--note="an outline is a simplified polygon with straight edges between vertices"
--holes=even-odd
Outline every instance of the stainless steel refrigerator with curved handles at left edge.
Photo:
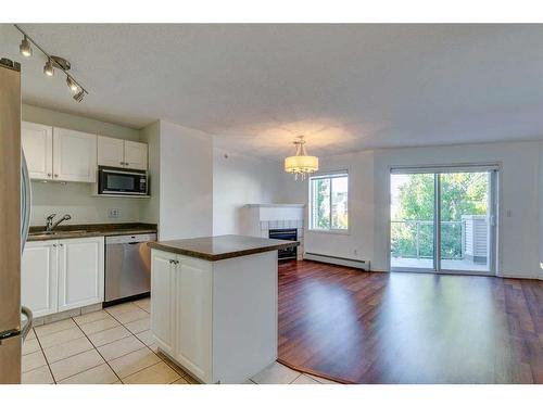
[[21,383],[21,346],[31,327],[31,314],[21,307],[21,255],[29,219],[30,180],[21,149],[21,65],[1,59],[0,383]]

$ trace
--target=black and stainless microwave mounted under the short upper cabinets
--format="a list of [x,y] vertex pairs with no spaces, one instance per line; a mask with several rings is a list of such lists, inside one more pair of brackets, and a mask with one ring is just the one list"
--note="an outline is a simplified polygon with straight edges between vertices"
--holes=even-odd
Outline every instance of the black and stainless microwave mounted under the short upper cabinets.
[[115,167],[98,167],[100,195],[148,195],[147,171]]

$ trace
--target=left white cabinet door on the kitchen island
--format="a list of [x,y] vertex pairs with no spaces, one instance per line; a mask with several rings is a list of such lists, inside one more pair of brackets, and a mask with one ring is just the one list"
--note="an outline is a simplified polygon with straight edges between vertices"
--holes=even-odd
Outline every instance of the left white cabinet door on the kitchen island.
[[151,331],[156,344],[174,355],[174,281],[176,255],[151,251]]

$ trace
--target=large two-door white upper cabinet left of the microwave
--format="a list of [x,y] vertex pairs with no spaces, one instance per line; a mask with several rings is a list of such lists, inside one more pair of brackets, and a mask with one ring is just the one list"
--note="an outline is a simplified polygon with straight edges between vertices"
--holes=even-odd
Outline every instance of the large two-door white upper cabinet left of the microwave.
[[23,122],[22,142],[31,179],[96,182],[96,135]]

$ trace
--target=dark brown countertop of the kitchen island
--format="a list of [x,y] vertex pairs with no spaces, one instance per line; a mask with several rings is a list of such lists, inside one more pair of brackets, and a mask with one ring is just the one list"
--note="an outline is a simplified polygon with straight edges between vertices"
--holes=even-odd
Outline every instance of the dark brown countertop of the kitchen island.
[[300,242],[225,234],[209,238],[149,242],[151,249],[198,257],[209,262],[298,246]]

